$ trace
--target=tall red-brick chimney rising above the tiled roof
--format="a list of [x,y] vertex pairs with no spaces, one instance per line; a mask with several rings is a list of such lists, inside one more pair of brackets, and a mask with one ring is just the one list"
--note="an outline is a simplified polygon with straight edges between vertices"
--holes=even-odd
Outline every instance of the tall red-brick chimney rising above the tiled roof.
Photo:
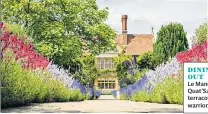
[[122,36],[123,36],[123,45],[127,45],[127,15],[122,15],[121,22],[122,22]]

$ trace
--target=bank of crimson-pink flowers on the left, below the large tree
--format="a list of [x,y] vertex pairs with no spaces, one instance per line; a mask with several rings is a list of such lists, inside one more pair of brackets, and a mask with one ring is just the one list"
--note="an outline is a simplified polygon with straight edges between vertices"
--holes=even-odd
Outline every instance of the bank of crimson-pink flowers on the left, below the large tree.
[[[3,27],[1,23],[1,27]],[[48,65],[48,59],[34,50],[32,42],[28,44],[25,43],[25,37],[22,37],[20,40],[17,35],[13,34],[10,31],[4,31],[0,37],[2,41],[3,52],[10,48],[16,54],[16,59],[20,59],[26,68],[36,69],[36,68],[46,68]]]

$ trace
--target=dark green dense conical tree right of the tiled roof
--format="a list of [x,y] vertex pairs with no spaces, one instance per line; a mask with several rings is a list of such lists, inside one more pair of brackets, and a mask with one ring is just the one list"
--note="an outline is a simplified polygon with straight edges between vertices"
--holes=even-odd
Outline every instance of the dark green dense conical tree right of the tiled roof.
[[179,23],[170,23],[162,26],[157,33],[157,40],[154,44],[154,58],[156,64],[161,64],[173,58],[177,52],[188,49],[188,41],[183,25]]

